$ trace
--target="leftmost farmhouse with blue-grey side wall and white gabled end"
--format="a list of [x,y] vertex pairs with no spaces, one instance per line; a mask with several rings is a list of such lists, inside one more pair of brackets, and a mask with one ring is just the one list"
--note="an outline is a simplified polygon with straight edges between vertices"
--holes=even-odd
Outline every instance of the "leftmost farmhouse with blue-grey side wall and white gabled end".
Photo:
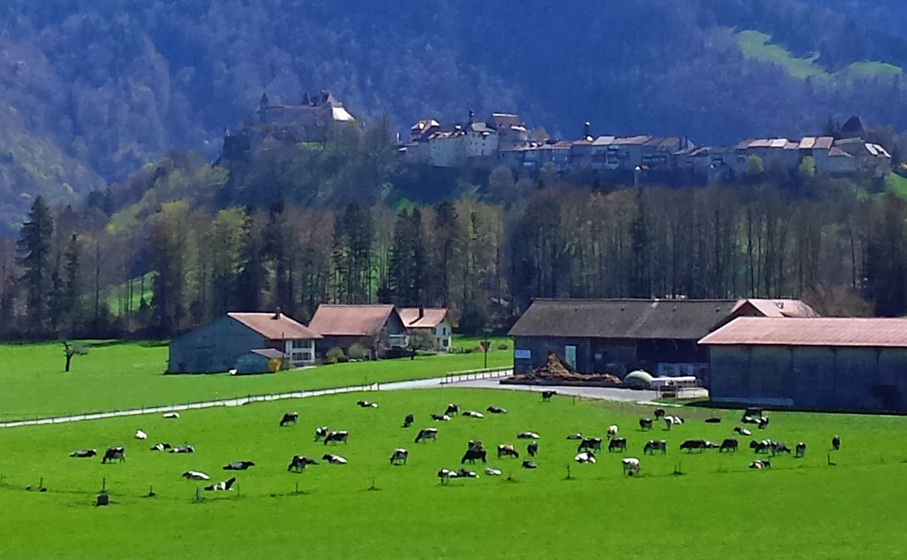
[[[207,327],[180,336],[170,346],[168,373],[219,373],[239,369],[237,361],[244,357],[246,372],[261,370],[262,359],[249,354],[270,349],[281,354],[282,367],[300,367],[315,362],[315,341],[321,336],[297,323],[280,310],[276,313],[230,313]],[[267,353],[267,352],[266,352]]]

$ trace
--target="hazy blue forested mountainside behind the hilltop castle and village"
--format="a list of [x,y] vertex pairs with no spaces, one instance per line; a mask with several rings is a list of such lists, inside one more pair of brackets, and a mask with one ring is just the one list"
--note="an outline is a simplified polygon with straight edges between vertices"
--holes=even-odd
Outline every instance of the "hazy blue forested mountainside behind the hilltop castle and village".
[[[0,234],[15,237],[37,195],[76,203],[174,148],[214,159],[262,92],[297,102],[330,90],[361,121],[404,128],[472,109],[519,111],[571,137],[589,120],[597,133],[704,144],[814,133],[852,113],[907,130],[902,6],[883,5],[7,0]],[[818,77],[745,57],[736,32],[750,29],[812,57]],[[866,62],[884,72],[845,72]]]

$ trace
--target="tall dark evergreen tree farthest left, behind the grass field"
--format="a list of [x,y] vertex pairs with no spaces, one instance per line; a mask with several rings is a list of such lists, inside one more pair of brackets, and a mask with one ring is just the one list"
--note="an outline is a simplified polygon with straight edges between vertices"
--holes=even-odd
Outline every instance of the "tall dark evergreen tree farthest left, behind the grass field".
[[19,237],[18,263],[23,269],[27,325],[30,333],[42,336],[47,328],[54,275],[51,263],[54,218],[43,197],[34,199]]

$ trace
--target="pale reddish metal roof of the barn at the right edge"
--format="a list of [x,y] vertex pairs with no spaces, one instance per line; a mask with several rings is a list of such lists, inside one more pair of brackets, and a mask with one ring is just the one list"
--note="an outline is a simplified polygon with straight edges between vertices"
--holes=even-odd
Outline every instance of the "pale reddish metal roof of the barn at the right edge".
[[907,348],[907,319],[742,317],[699,341],[709,346]]

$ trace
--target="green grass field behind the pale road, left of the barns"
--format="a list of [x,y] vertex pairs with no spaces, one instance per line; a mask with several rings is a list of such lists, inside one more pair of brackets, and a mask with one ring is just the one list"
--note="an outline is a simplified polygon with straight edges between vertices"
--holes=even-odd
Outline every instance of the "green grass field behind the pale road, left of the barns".
[[[58,343],[0,345],[0,420],[205,401],[439,377],[482,369],[482,353],[415,360],[345,363],[276,375],[163,375],[165,343],[94,343],[63,373]],[[488,354],[489,367],[510,366],[512,351]]]

